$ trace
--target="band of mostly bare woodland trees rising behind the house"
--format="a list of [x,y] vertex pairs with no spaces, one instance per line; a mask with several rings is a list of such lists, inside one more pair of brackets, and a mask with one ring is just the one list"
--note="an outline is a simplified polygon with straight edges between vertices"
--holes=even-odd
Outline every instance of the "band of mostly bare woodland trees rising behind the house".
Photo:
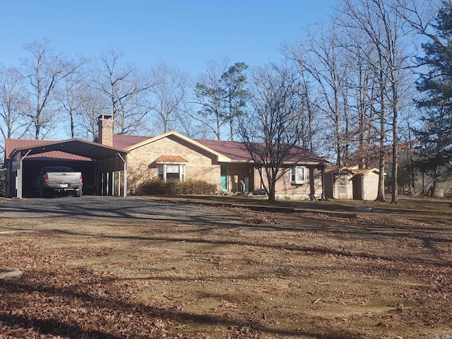
[[436,184],[451,160],[451,14],[451,0],[343,0],[277,63],[210,61],[196,79],[114,49],[68,59],[32,42],[19,68],[0,65],[0,133],[93,140],[97,117],[114,114],[117,133],[292,143],[379,168],[377,199],[391,186],[396,203],[399,187],[417,189],[420,173]]

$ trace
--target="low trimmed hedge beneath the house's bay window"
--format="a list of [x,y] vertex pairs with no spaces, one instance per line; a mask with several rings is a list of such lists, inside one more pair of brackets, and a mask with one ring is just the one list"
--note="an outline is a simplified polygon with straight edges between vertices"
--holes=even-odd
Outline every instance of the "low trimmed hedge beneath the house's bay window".
[[160,178],[150,179],[140,187],[142,194],[151,196],[177,196],[179,194],[215,194],[217,188],[203,180],[187,179],[185,182]]

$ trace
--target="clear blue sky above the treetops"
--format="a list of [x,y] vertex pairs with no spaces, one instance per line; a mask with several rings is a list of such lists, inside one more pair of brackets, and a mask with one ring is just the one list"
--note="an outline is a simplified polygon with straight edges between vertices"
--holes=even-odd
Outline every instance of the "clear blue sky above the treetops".
[[167,61],[197,76],[208,61],[262,66],[281,44],[328,20],[337,0],[2,1],[0,64],[20,66],[22,46],[47,38],[66,57],[107,49],[150,69]]

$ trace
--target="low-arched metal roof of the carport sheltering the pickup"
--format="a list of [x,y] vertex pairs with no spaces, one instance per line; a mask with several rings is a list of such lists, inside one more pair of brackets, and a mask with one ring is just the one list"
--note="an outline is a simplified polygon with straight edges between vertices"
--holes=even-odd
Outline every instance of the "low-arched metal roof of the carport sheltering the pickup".
[[81,155],[83,157],[90,157],[95,160],[105,160],[114,155],[121,155],[124,157],[129,151],[121,150],[119,148],[113,148],[100,143],[93,143],[91,141],[85,141],[81,139],[68,139],[63,141],[49,141],[48,143],[40,143],[39,145],[26,145],[23,147],[15,148],[10,155],[6,157],[13,157],[16,153],[20,152],[20,156],[23,155],[35,155],[40,153],[47,153],[54,150],[59,150],[65,153],[71,153],[75,155]]

